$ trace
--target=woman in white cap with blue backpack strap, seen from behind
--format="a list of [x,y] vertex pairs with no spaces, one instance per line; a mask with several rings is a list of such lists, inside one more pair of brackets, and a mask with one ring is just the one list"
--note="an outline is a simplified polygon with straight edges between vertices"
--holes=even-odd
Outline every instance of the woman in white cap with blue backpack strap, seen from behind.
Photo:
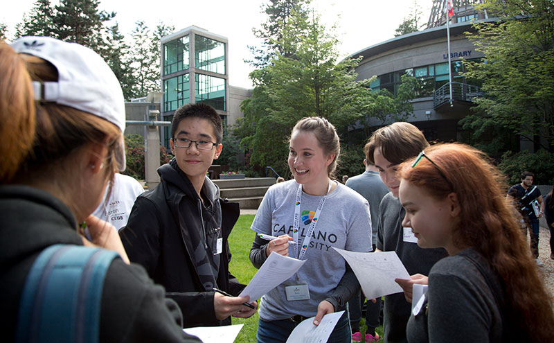
[[[125,264],[114,227],[90,216],[107,182],[125,169],[124,129],[118,80],[96,53],[48,37],[23,37],[12,47],[0,42],[0,154],[6,161],[0,165],[0,331],[6,342],[77,342],[78,335],[93,337],[91,342],[199,342],[183,333],[181,313],[164,298],[163,288],[139,265]],[[88,226],[88,240],[78,233],[78,223]],[[64,294],[35,317],[24,308],[39,305],[26,303],[26,297],[39,299],[35,294],[52,287],[39,283],[37,292],[27,292],[33,272],[51,266],[41,270],[37,256],[60,244],[97,245],[121,258],[109,259],[103,279],[96,274],[81,279],[82,285],[100,281],[100,286],[88,288],[99,290],[96,299],[89,294],[77,298],[86,300],[78,304],[78,313],[60,310],[74,295]],[[93,306],[98,315],[87,317]],[[65,322],[75,331],[65,335],[51,329]]]

